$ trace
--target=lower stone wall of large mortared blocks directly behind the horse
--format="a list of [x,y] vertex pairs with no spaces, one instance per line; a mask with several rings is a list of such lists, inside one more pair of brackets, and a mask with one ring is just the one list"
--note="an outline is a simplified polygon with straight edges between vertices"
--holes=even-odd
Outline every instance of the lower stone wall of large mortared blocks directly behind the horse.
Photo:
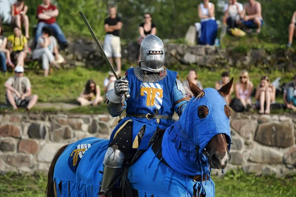
[[[60,147],[90,136],[108,139],[117,121],[109,115],[0,115],[0,172],[46,173]],[[225,171],[296,172],[296,116],[234,114],[230,125],[233,144]]]

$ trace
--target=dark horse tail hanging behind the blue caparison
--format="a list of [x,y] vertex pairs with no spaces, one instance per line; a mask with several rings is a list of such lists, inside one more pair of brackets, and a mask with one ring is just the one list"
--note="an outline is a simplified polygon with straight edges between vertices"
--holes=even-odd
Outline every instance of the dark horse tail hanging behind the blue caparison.
[[[68,144],[69,145],[69,144]],[[47,179],[47,186],[46,186],[46,197],[55,197],[55,191],[54,191],[54,181],[53,181],[53,173],[54,173],[54,167],[57,163],[59,157],[62,155],[62,153],[65,151],[65,149],[68,147],[68,145],[63,146],[60,148],[55,156],[53,157],[49,170],[48,170],[48,179]]]

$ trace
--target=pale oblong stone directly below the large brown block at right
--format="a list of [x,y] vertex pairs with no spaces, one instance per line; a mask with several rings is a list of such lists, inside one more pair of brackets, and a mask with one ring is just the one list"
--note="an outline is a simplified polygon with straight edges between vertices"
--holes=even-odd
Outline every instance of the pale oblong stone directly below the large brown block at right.
[[271,148],[256,146],[249,160],[256,163],[280,164],[283,161],[283,154]]

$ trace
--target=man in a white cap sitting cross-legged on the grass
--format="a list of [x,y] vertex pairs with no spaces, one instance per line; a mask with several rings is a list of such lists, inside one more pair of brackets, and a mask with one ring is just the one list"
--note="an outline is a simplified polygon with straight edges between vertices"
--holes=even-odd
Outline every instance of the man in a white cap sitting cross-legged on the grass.
[[15,76],[8,78],[4,83],[6,102],[13,107],[13,110],[17,110],[18,107],[30,110],[36,104],[38,96],[32,95],[30,79],[24,77],[22,66],[16,66],[14,74]]

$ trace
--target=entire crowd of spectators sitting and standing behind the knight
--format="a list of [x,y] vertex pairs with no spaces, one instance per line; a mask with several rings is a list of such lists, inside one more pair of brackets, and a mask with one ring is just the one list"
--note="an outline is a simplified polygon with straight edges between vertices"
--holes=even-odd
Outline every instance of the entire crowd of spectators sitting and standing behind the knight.
[[[6,38],[3,36],[3,27],[0,25],[0,64],[2,71],[5,73],[7,67],[14,69],[15,77],[9,78],[5,83],[6,101],[11,104],[14,109],[17,107],[28,106],[30,110],[37,102],[37,95],[31,95],[30,80],[24,77],[24,60],[29,51],[28,39],[29,36],[29,18],[26,15],[28,6],[25,0],[17,0],[11,6],[12,25],[14,34]],[[202,0],[198,6],[198,16],[201,19],[201,44],[214,44],[214,38],[217,36],[217,23],[215,19],[215,4],[210,0]],[[104,51],[109,58],[111,64],[116,64],[116,73],[121,73],[121,43],[120,30],[122,28],[121,18],[117,16],[117,9],[114,6],[109,8],[110,17],[105,20],[104,28],[106,31]],[[50,0],[43,0],[43,4],[37,7],[38,26],[36,32],[36,48],[33,51],[33,59],[40,60],[46,77],[49,72],[49,67],[54,66],[59,69],[61,55],[59,48],[63,49],[68,46],[61,28],[56,22],[56,17],[59,11],[57,7],[50,3]],[[139,37],[137,43],[142,43],[143,39],[148,35],[156,35],[156,25],[152,22],[150,13],[144,14],[145,21],[139,25]],[[229,3],[224,7],[224,20],[228,27],[242,27],[244,29],[256,29],[256,33],[260,33],[260,28],[264,24],[261,16],[261,6],[256,0],[249,0],[249,3],[242,5],[237,0],[229,0]],[[296,12],[293,15],[289,26],[289,43],[292,44],[293,35],[295,34]],[[25,36],[22,34],[23,25]],[[290,38],[291,36],[291,38]],[[57,40],[56,40],[56,38]],[[7,44],[7,43],[10,43]],[[140,53],[139,53],[140,62]],[[15,67],[15,65],[17,65]],[[198,80],[198,75],[195,70],[188,72],[188,79],[202,89],[202,84]],[[228,72],[223,72],[221,80],[215,84],[215,89],[221,88],[229,82],[230,76]],[[287,83],[284,90],[284,103],[288,109],[296,111],[296,91],[295,80]],[[114,88],[115,77],[112,72],[109,72],[109,77],[104,80],[104,92]],[[187,80],[183,81],[185,91],[188,97],[193,94],[189,89]],[[256,102],[253,103],[251,96],[254,92],[254,84],[250,80],[247,71],[240,73],[239,81],[233,85],[230,94],[226,97],[227,102],[237,112],[252,111],[254,108],[259,109],[259,114],[269,114],[270,105],[275,102],[275,86],[271,84],[267,76],[261,78],[260,83],[256,86],[255,96]],[[231,98],[231,93],[234,92],[234,98]],[[81,91],[77,101],[81,106],[93,105],[96,106],[106,99],[101,96],[99,85],[93,79],[89,79],[84,89]]]

